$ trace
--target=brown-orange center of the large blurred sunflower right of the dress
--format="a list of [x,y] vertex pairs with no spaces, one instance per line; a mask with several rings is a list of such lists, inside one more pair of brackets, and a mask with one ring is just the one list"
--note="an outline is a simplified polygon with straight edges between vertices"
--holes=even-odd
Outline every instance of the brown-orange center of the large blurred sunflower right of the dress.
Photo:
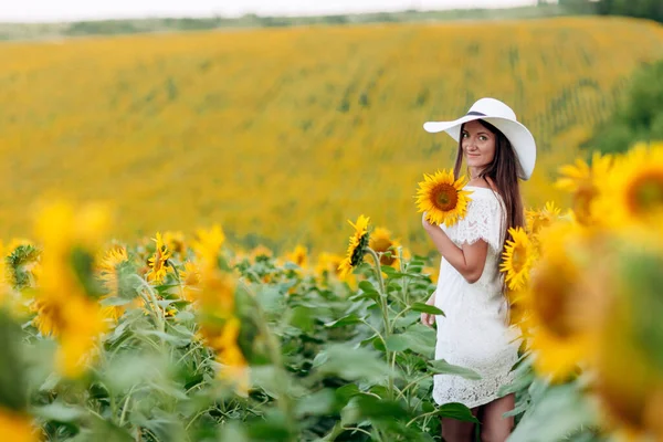
[[562,339],[571,337],[576,328],[569,312],[575,280],[570,269],[548,266],[532,282],[534,311],[543,325]]

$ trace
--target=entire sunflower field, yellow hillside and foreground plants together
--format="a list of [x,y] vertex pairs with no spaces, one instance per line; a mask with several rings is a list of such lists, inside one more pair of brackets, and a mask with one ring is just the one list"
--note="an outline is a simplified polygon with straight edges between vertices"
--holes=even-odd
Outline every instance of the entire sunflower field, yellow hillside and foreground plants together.
[[565,18],[0,44],[1,440],[475,422],[432,400],[433,376],[480,375],[433,359],[415,193],[454,155],[421,124],[492,95],[538,140],[501,266],[509,442],[663,441],[663,145],[579,150],[662,43]]

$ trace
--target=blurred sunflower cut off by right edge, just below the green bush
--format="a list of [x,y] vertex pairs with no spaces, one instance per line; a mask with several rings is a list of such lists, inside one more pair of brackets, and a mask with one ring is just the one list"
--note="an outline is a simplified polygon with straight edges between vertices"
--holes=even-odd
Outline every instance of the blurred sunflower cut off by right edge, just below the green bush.
[[636,145],[617,160],[596,211],[611,228],[662,232],[663,143]]

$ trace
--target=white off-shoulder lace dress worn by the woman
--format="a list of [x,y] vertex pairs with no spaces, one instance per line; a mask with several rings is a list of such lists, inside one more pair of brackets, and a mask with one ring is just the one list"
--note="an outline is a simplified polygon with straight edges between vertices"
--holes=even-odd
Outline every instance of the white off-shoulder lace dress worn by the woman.
[[465,218],[442,229],[459,246],[486,241],[488,254],[481,278],[473,284],[442,259],[435,306],[445,316],[435,317],[435,359],[471,368],[482,378],[435,375],[433,399],[438,404],[461,402],[474,408],[495,400],[499,387],[513,380],[511,368],[518,358],[519,334],[507,325],[507,304],[497,269],[504,240],[504,203],[491,189],[465,189],[472,191]]

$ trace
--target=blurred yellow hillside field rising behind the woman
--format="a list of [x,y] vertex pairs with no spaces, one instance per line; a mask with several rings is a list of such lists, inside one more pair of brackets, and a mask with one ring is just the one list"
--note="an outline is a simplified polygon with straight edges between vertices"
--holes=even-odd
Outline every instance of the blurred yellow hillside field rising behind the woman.
[[527,206],[663,27],[608,18],[312,27],[0,44],[0,231],[32,204],[108,201],[123,239],[219,222],[245,245],[341,252],[364,213],[423,252],[413,196],[451,167],[429,119],[504,99],[534,131]]

